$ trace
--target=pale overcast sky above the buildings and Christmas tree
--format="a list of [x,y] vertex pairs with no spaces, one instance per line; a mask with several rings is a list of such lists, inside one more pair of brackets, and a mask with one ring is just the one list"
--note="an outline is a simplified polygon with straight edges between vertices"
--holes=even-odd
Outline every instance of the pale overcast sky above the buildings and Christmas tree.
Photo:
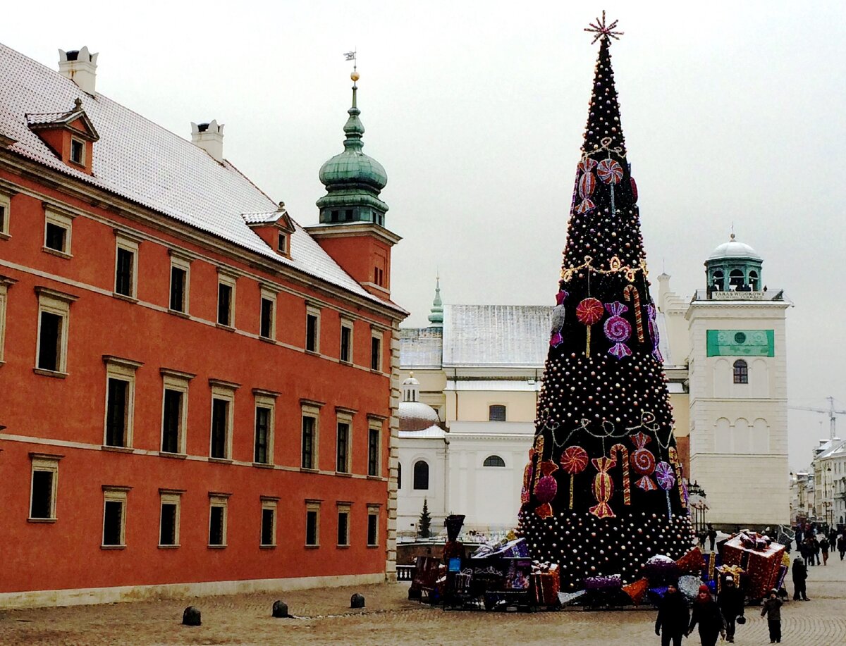
[[[438,272],[449,304],[554,304],[605,8],[651,276],[689,297],[733,224],[795,304],[790,404],[846,409],[846,4],[645,4],[42,0],[5,3],[0,40],[52,68],[87,45],[98,91],[186,138],[225,123],[224,156],[303,225],[357,47],[393,297],[423,326]],[[827,416],[791,411],[789,434],[804,468]]]

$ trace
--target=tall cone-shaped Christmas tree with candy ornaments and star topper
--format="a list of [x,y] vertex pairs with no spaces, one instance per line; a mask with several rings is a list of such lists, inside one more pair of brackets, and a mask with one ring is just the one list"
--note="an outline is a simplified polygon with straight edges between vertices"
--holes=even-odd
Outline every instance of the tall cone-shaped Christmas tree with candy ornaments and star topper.
[[676,560],[692,543],[611,68],[616,25],[603,12],[587,30],[600,51],[519,516],[563,591],[632,583],[651,556]]

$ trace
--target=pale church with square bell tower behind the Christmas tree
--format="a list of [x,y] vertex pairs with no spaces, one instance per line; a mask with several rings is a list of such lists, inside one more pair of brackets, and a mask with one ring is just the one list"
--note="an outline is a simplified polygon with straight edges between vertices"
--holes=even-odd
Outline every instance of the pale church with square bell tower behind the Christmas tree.
[[[675,435],[689,481],[718,528],[789,520],[785,310],[762,259],[732,238],[706,260],[692,298],[658,276],[657,322]],[[400,337],[399,539],[423,502],[435,534],[449,513],[464,531],[514,528],[535,433],[552,306],[443,305]]]

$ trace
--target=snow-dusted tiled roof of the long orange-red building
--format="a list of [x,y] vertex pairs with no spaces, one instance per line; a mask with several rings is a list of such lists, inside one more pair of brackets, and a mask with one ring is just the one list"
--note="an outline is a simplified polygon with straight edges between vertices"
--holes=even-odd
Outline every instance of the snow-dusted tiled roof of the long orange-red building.
[[[93,146],[92,175],[63,163],[29,127],[36,123],[34,118],[67,114],[77,99],[100,135]],[[14,140],[8,150],[45,167],[398,309],[368,293],[296,222],[290,259],[271,249],[241,214],[269,215],[278,211],[277,203],[231,163],[215,161],[190,141],[107,96],[86,94],[57,71],[4,45],[0,45],[0,135]]]

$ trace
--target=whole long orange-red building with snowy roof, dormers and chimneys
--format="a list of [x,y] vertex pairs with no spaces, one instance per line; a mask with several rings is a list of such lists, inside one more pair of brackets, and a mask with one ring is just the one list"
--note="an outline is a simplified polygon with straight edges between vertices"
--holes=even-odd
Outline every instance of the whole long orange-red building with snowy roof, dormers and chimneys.
[[389,285],[61,55],[0,46],[0,605],[390,578]]

